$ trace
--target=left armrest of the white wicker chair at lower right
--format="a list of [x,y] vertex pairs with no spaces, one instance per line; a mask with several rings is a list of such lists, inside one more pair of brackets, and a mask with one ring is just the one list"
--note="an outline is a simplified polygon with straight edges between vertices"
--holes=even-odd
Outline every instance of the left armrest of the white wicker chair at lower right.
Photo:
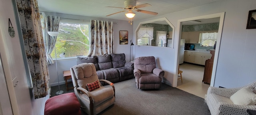
[[[209,93],[214,93],[223,97],[228,97],[230,98],[236,91],[241,89],[242,87],[238,88],[219,88],[219,87],[209,87],[207,90],[207,94]],[[207,95],[206,94],[206,95]]]

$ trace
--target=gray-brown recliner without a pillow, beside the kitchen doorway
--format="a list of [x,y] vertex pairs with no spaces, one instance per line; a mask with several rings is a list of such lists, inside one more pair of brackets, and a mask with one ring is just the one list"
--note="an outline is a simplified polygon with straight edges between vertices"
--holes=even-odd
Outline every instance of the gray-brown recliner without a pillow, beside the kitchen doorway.
[[164,71],[156,68],[154,56],[137,57],[134,60],[134,76],[138,89],[159,89]]

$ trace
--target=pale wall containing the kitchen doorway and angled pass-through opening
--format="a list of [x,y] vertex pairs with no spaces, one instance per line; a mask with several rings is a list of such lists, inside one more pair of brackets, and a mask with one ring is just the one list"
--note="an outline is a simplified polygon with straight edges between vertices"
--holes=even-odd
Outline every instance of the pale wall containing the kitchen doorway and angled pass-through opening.
[[[213,82],[215,87],[239,87],[256,80],[256,29],[246,30],[248,11],[255,9],[255,0],[222,0],[163,16],[135,21],[133,29],[135,30],[140,22],[166,17],[175,26],[174,48],[177,48],[178,42],[176,40],[179,39],[178,20],[226,12],[216,77]],[[165,48],[154,47],[149,49],[148,47],[140,46],[135,46],[135,48],[135,57],[142,56],[139,54],[156,55],[163,59],[163,61],[160,61],[162,69],[167,70],[168,73],[174,73],[172,69],[176,67],[177,50],[170,50],[171,54],[169,54]],[[145,54],[145,51],[150,52]],[[166,61],[168,59],[171,60]],[[173,79],[173,75],[165,75],[165,77]]]

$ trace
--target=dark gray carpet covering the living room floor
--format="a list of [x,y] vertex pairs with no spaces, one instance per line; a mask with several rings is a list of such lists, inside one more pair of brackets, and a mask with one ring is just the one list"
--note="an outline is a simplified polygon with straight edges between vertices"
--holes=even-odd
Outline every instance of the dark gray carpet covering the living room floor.
[[[164,83],[159,90],[137,89],[135,79],[114,85],[116,102],[99,115],[210,115],[203,98]],[[65,87],[60,85],[64,93],[73,92],[67,92]],[[58,86],[52,87],[51,95],[54,96],[56,91]]]

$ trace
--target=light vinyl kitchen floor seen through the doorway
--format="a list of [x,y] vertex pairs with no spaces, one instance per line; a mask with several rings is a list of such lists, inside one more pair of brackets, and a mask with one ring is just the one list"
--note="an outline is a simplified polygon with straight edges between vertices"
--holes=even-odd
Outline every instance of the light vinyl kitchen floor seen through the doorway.
[[178,79],[177,87],[183,91],[204,98],[210,84],[202,83],[204,77],[204,66],[193,65],[189,63],[180,64],[182,73],[182,81]]

